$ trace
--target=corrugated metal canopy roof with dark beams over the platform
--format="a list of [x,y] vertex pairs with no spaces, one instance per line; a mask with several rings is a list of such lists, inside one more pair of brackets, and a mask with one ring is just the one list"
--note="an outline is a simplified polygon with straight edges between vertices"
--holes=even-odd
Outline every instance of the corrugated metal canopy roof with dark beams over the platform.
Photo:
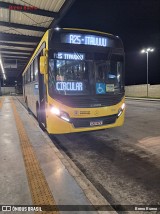
[[44,32],[58,24],[74,1],[0,0],[0,55],[7,78],[22,73]]

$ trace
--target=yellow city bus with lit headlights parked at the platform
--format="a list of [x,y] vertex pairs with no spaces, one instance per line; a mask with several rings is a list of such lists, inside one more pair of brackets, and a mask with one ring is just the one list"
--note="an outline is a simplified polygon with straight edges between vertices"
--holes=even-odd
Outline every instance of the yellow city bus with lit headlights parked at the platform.
[[124,48],[118,36],[50,29],[22,75],[25,102],[50,134],[124,123]]

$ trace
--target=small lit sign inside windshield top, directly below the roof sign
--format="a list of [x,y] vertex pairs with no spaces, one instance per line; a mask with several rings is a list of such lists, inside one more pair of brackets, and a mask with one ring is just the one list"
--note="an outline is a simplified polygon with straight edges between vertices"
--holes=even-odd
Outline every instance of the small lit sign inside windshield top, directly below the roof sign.
[[55,59],[68,59],[68,60],[84,60],[85,54],[83,53],[68,53],[68,52],[58,52],[54,54]]

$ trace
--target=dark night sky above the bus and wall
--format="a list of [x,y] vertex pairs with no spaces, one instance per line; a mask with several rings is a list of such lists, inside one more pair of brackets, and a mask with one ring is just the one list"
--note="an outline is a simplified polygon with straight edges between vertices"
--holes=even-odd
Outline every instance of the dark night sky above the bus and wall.
[[160,84],[160,0],[76,0],[59,23],[60,27],[86,28],[121,37],[126,54],[126,85],[146,83],[149,53],[149,83]]

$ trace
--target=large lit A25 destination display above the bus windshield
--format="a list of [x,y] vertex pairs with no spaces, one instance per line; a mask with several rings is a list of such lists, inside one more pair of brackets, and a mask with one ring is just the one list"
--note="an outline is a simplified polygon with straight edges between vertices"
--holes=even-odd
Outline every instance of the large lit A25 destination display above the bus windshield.
[[96,35],[66,34],[63,35],[62,42],[76,45],[95,45],[107,47],[108,38]]

